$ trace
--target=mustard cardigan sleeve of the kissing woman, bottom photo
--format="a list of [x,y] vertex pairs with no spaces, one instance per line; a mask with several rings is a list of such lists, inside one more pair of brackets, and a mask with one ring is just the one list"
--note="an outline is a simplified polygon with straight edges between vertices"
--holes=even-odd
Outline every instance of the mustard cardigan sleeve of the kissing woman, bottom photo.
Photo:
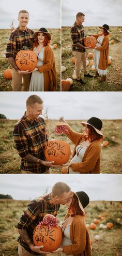
[[[70,227],[71,228],[71,227]],[[64,246],[63,251],[66,255],[81,254],[86,247],[86,226],[81,218],[77,218],[72,226],[73,242],[70,246]]]

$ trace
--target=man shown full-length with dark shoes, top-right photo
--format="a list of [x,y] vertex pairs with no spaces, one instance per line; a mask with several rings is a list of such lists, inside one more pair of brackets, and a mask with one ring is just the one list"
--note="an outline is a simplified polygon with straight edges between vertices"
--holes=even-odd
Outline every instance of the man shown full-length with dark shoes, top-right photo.
[[72,53],[75,60],[75,74],[77,76],[77,82],[85,84],[85,82],[80,78],[80,68],[81,63],[83,63],[84,76],[88,78],[93,78],[93,75],[87,73],[86,70],[86,49],[90,47],[84,46],[84,27],[82,23],[85,20],[85,15],[82,12],[78,12],[76,16],[76,21],[71,27],[71,40],[72,40]]

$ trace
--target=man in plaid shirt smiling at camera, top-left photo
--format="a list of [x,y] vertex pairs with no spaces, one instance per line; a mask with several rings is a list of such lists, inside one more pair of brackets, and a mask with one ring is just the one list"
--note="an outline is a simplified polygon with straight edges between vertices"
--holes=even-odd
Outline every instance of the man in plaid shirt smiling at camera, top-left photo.
[[26,10],[20,10],[18,15],[19,27],[13,30],[10,34],[10,38],[6,48],[6,58],[12,66],[12,91],[21,91],[22,78],[24,91],[28,91],[31,72],[28,70],[21,71],[16,65],[15,58],[17,53],[23,49],[23,46],[27,46],[29,50],[32,50],[34,41],[34,31],[27,28],[29,21],[29,14]]

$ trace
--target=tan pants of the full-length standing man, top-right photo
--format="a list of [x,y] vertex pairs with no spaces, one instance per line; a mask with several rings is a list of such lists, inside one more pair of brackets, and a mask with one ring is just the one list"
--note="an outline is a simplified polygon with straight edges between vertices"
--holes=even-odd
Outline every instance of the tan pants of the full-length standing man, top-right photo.
[[80,80],[80,68],[82,63],[83,63],[84,74],[87,74],[86,53],[73,51],[72,54],[74,55],[74,60],[75,60],[75,73],[76,73],[77,79]]

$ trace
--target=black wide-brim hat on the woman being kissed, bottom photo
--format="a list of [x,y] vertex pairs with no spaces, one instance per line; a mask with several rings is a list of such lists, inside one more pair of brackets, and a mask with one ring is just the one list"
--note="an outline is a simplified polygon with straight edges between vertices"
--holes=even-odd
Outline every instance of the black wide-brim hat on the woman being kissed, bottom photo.
[[74,193],[73,191],[71,191],[71,196],[75,195],[78,198],[79,201],[79,207],[80,209],[85,213],[84,208],[88,205],[89,203],[89,197],[88,195],[84,192],[84,191],[78,191],[76,193]]

